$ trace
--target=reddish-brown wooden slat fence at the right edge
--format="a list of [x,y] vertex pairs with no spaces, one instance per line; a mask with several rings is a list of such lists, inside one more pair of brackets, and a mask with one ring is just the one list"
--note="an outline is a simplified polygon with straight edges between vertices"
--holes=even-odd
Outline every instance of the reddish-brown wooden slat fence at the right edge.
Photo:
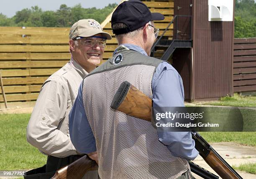
[[234,92],[256,91],[256,38],[235,38]]

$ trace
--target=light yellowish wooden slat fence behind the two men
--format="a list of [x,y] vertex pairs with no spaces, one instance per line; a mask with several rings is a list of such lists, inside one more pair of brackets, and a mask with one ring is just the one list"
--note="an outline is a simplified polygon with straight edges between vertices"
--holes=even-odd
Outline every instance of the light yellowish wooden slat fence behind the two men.
[[[156,22],[160,35],[173,18],[174,0],[144,1],[151,12],[164,14],[165,20]],[[113,36],[111,15],[102,23]],[[0,27],[0,72],[9,107],[34,105],[44,81],[70,59],[70,28]],[[165,33],[172,38],[173,26]],[[113,39],[107,42],[103,60],[112,56],[117,47]],[[24,103],[26,102],[26,103]],[[0,108],[4,108],[0,89]]]

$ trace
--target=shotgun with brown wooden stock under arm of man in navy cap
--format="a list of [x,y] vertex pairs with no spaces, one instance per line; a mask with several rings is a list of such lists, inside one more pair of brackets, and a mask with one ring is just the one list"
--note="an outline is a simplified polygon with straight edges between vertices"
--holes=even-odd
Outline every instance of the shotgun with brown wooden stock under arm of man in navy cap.
[[[120,84],[111,103],[111,108],[149,122],[151,122],[151,107],[152,100],[127,81]],[[192,138],[200,156],[220,177],[243,179],[202,136],[193,132]],[[192,166],[191,163],[189,165]]]

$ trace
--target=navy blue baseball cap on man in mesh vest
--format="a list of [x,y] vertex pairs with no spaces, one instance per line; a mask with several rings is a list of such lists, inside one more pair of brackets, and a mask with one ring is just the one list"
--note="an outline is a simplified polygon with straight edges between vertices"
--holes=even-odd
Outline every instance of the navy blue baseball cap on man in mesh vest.
[[146,4],[140,0],[124,1],[113,12],[111,18],[111,27],[113,24],[124,23],[127,28],[113,30],[116,35],[134,31],[145,26],[150,20],[164,20],[161,13],[151,13]]

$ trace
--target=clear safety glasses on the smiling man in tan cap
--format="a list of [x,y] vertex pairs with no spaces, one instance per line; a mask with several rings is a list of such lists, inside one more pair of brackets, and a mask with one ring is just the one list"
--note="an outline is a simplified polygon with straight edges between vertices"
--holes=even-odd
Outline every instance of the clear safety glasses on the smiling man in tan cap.
[[80,39],[80,42],[84,45],[84,46],[89,46],[89,47],[93,47],[97,44],[97,46],[99,46],[100,48],[105,48],[106,46],[106,39],[103,38],[102,40],[95,40],[98,38],[102,38],[100,36],[92,36],[90,38],[85,38],[82,39],[84,37],[77,37],[77,40]]

